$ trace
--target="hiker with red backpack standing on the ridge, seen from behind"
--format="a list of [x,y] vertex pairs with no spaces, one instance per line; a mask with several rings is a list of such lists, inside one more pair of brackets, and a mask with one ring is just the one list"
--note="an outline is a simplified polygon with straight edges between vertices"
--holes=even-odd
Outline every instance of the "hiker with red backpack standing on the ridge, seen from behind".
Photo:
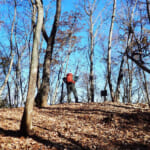
[[63,78],[63,81],[67,85],[67,97],[68,103],[71,102],[71,92],[73,92],[75,97],[75,102],[78,103],[78,95],[75,88],[75,82],[78,80],[78,76],[73,76],[72,73],[68,73],[66,77]]

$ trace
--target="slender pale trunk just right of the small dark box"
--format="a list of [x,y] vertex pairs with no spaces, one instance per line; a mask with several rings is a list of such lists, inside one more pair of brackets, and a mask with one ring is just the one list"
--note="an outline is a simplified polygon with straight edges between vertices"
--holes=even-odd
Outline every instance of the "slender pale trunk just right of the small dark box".
[[112,14],[111,26],[109,31],[108,56],[107,56],[107,73],[108,73],[107,77],[108,77],[108,84],[109,84],[112,102],[114,102],[115,99],[114,99],[113,86],[111,82],[111,42],[112,42],[112,32],[113,32],[113,26],[115,20],[115,12],[116,12],[116,0],[114,0],[114,4],[113,4],[113,14]]

